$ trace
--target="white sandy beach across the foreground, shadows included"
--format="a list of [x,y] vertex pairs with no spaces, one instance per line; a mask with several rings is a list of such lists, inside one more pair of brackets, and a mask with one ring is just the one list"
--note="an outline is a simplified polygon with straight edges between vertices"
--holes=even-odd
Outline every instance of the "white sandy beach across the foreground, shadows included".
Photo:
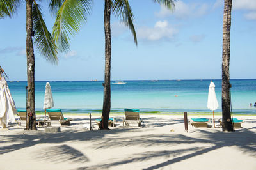
[[88,116],[68,117],[71,125],[55,133],[0,128],[0,169],[256,169],[255,116],[235,116],[243,128],[225,133],[190,124],[185,132],[182,115],[141,115],[144,127],[120,121],[93,131]]

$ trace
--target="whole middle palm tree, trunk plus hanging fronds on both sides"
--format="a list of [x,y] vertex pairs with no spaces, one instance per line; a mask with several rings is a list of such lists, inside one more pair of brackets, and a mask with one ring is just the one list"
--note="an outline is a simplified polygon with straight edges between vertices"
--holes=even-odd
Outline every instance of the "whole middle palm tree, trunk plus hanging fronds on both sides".
[[[163,4],[170,10],[174,6],[175,0],[153,0],[156,3]],[[86,14],[90,13],[92,0],[82,0],[79,4],[77,0],[59,0],[51,1],[52,8],[57,9],[57,19],[54,24],[54,40],[58,47],[63,51],[69,49],[68,33],[74,35],[78,31],[81,21],[86,21]],[[69,6],[68,6],[69,5]],[[78,5],[78,6],[77,6]],[[80,6],[79,6],[80,5]],[[55,11],[57,11],[55,10]],[[108,120],[111,109],[111,88],[110,88],[110,71],[111,71],[111,26],[110,18],[111,11],[121,22],[130,29],[134,36],[134,42],[137,45],[136,31],[134,29],[131,6],[128,0],[105,0],[104,6],[104,30],[105,30],[105,77],[104,77],[104,100],[102,108],[102,121],[100,122],[100,129],[109,129]],[[69,13],[71,12],[71,15]],[[64,24],[64,25],[63,25]],[[66,31],[67,30],[67,31]]]

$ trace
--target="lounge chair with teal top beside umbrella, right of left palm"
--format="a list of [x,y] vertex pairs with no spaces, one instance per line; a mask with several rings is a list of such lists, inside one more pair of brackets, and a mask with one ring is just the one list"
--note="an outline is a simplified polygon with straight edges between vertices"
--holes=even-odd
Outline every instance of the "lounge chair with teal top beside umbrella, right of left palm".
[[70,125],[72,118],[64,118],[61,109],[46,109],[49,119],[53,121],[59,121],[60,125]]

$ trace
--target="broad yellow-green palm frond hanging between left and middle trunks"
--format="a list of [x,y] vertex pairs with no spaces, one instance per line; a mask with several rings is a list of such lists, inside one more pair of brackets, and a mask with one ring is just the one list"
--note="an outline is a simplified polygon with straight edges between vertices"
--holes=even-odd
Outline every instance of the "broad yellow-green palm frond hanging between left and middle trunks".
[[65,0],[57,12],[53,26],[54,42],[61,52],[69,50],[69,35],[76,35],[90,14],[93,0]]

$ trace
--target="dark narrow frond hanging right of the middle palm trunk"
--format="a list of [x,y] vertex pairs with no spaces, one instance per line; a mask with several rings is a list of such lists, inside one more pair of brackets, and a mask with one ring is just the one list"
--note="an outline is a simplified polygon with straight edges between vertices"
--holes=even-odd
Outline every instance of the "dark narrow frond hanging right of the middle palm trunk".
[[134,42],[137,45],[137,36],[133,25],[134,16],[128,0],[114,0],[112,7],[113,13],[115,13],[116,17],[118,17],[122,22],[124,22],[125,26],[127,26],[131,31],[134,37]]

